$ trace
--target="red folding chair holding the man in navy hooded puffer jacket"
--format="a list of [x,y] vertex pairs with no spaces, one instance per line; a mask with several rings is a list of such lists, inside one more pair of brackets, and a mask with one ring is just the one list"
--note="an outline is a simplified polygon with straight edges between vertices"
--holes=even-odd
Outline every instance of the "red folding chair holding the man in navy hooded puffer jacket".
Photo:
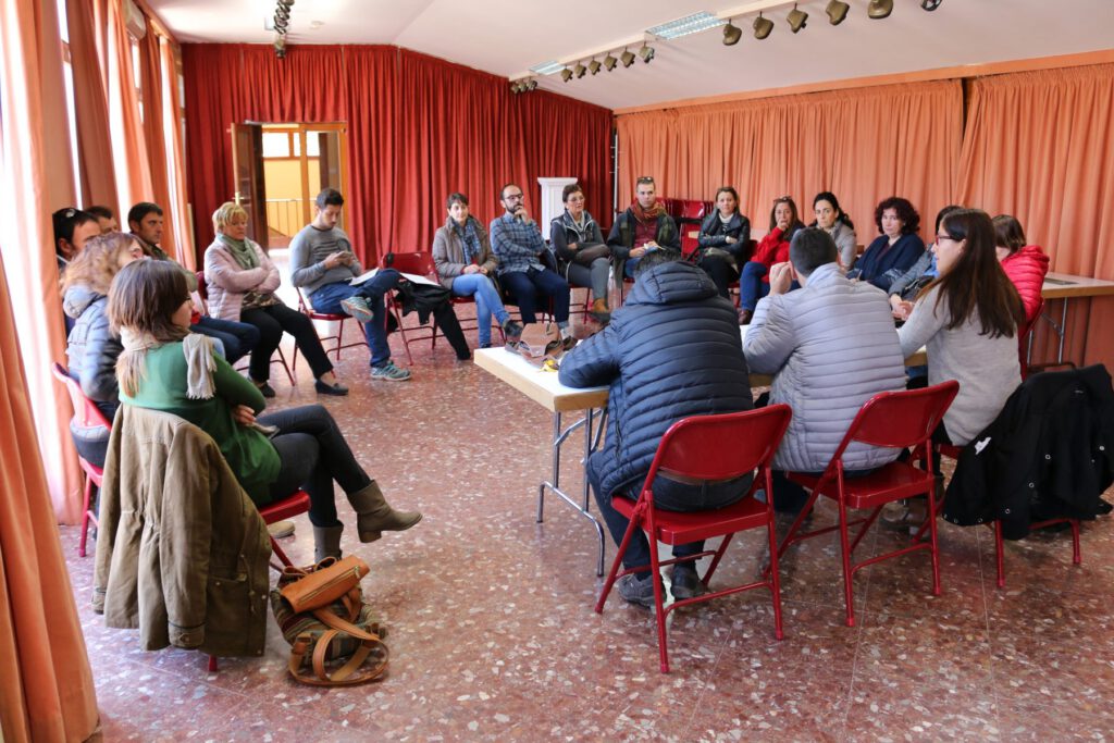
[[[759,502],[754,498],[754,491],[758,488],[765,488],[766,492],[772,491],[770,462],[773,460],[774,452],[778,451],[781,437],[785,433],[791,417],[792,411],[789,405],[779,404],[741,413],[694,416],[680,420],[671,426],[665,436],[662,437],[638,499],[632,500],[623,496],[616,496],[612,499],[612,506],[631,519],[631,525],[623,537],[623,544],[619,545],[607,581],[599,594],[599,600],[596,602],[596,613],[604,610],[604,603],[617,578],[646,569],[647,566],[641,565],[619,573],[623,555],[626,553],[627,545],[631,544],[634,530],[644,529],[652,544],[648,567],[654,579],[657,647],[661,653],[662,673],[670,672],[665,618],[670,612],[680,606],[706,602],[752,588],[769,588],[773,598],[774,636],[778,639],[782,638],[781,584],[778,575],[778,537],[774,531],[773,500],[766,498],[766,502]],[[754,478],[754,485],[750,492],[742,500],[725,508],[680,512],[654,507],[652,486],[658,472],[665,477],[681,476],[686,480],[721,481],[731,480],[755,470],[758,470],[758,476]],[[703,577],[706,585],[712,580],[712,575],[719,567],[727,545],[731,544],[732,536],[736,531],[763,527],[770,539],[771,554],[770,574],[765,580],[711,592],[703,596],[686,598],[664,606],[662,600],[662,566],[714,555],[712,564]],[[667,545],[684,545],[712,537],[723,537],[719,549],[714,551],[705,550],[696,555],[674,557],[664,561],[657,557],[658,541]]]

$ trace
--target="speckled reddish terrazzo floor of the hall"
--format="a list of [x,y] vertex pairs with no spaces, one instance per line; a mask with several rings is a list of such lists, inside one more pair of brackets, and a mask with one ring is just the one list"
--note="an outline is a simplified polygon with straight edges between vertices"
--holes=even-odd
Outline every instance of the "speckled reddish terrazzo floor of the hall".
[[[462,309],[467,312],[467,307]],[[354,327],[353,327],[354,330]],[[584,330],[580,330],[583,333]],[[475,343],[475,332],[469,333]],[[407,364],[395,334],[395,361]],[[94,559],[62,527],[106,741],[1062,741],[1114,736],[1114,531],[1086,524],[1083,565],[1067,534],[1007,544],[995,585],[986,529],[941,521],[944,594],[930,594],[924,554],[862,570],[858,626],[843,624],[836,538],[782,563],[785,637],[769,595],[749,592],[672,615],[673,671],[658,672],[653,615],[613,594],[593,612],[592,526],[555,499],[536,522],[549,469],[551,420],[525,395],[446,343],[414,346],[414,379],[372,382],[362,349],[344,352],[344,399],[319,398],[301,366],[275,370],[274,408],[321,402],[392,504],[423,521],[342,547],[371,566],[367,599],[390,629],[383,681],[299,685],[273,619],[265,657],[139,649],[90,609]],[[565,485],[579,492],[577,433]],[[1107,499],[1111,493],[1107,493]],[[834,518],[823,509],[821,519]],[[282,540],[312,560],[306,518]],[[763,537],[741,535],[715,583],[753,575]],[[881,551],[877,529],[860,547]],[[857,553],[858,554],[858,553]],[[614,556],[608,544],[607,558]],[[608,561],[609,565],[609,561]]]

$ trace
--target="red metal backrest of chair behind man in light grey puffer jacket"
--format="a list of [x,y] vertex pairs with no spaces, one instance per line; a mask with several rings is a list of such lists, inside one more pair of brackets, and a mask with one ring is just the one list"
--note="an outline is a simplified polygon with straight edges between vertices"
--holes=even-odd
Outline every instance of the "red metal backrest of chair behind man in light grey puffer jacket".
[[958,392],[959,382],[948,380],[920,390],[876,394],[859,409],[828,469],[836,466],[852,441],[895,449],[922,446]]

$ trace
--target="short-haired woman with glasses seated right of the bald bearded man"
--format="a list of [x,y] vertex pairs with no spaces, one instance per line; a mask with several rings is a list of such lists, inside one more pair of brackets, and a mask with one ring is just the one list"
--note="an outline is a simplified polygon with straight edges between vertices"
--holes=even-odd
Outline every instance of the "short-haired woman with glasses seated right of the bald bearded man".
[[612,320],[607,306],[607,281],[612,273],[612,248],[599,225],[584,208],[584,189],[569,184],[561,192],[565,213],[549,223],[549,244],[557,252],[557,270],[570,286],[592,287],[592,316],[602,324]]

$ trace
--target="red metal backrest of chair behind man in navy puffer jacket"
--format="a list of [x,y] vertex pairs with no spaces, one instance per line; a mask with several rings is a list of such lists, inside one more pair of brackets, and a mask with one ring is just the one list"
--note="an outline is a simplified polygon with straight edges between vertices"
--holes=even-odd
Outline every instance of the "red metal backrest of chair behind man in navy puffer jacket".
[[753,472],[773,459],[792,414],[789,405],[776,404],[682,419],[662,437],[646,486],[658,471],[695,480],[730,480]]

